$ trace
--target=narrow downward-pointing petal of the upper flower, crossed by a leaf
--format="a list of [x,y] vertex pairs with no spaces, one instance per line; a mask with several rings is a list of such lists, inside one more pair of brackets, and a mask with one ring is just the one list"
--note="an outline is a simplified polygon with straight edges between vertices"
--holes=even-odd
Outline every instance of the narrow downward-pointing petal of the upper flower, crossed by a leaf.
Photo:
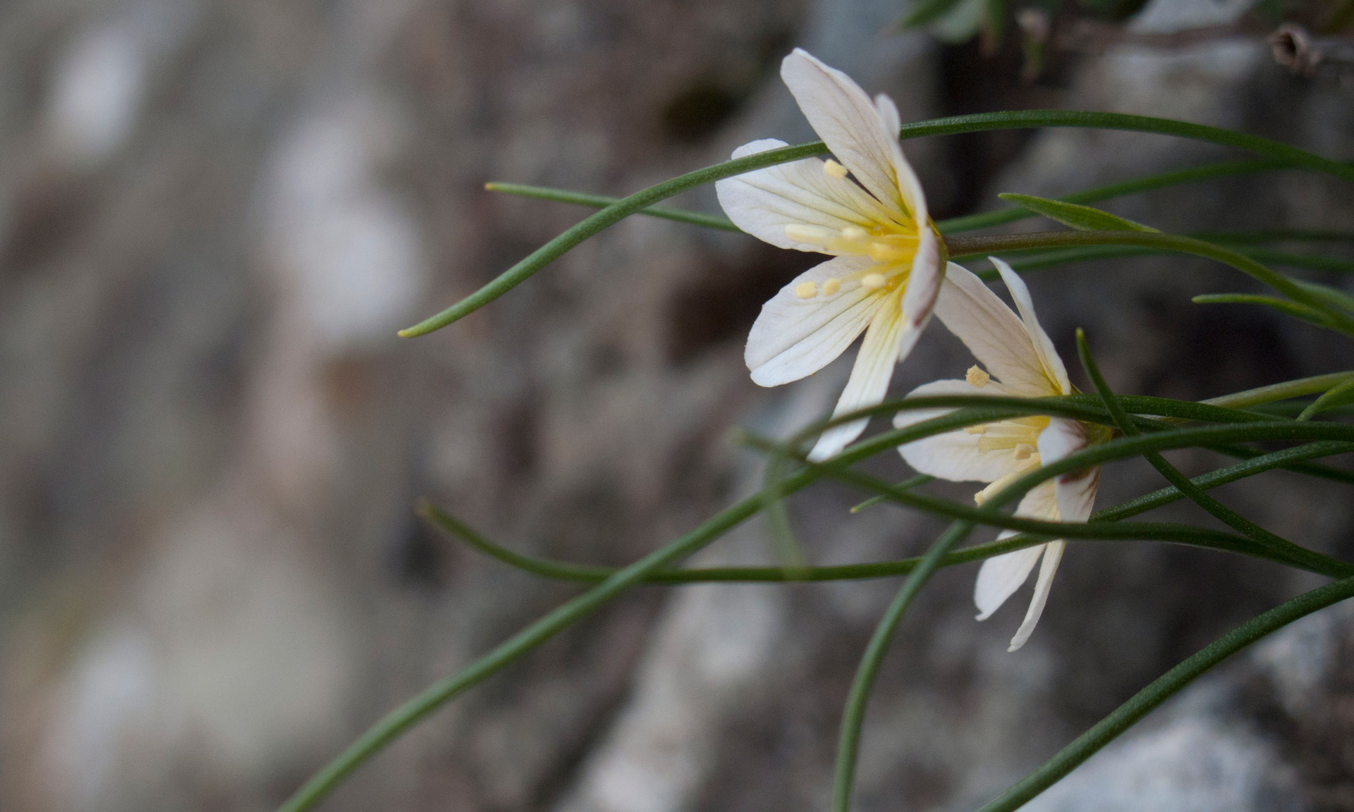
[[[904,340],[915,342],[915,336],[904,336],[909,330],[903,329],[903,314],[898,299],[898,294],[888,295],[869,322],[865,340],[856,355],[856,365],[852,367],[850,378],[846,380],[846,388],[833,409],[834,417],[881,402],[888,391],[888,382],[894,378],[894,367],[898,365],[898,355]],[[808,459],[821,463],[835,456],[852,440],[860,437],[868,422],[869,420],[853,420],[827,429],[818,438]]]

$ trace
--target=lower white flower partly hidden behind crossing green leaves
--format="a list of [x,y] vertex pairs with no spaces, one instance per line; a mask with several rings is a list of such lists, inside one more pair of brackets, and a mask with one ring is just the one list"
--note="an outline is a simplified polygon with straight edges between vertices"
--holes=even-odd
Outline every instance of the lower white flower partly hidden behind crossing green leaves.
[[[1016,299],[1020,317],[1011,313],[980,279],[959,265],[949,265],[945,284],[936,304],[936,314],[946,328],[972,351],[988,372],[979,367],[968,371],[965,380],[937,380],[917,387],[909,397],[922,395],[995,395],[1044,398],[1067,395],[1072,384],[1057,357],[1053,342],[1039,326],[1029,290],[1010,265],[990,257]],[[899,411],[894,425],[902,428],[944,414],[946,409]],[[922,474],[941,479],[990,482],[974,498],[982,505],[1021,474],[1040,464],[1053,463],[1067,455],[1109,437],[1108,429],[1060,417],[1017,417],[968,426],[957,432],[934,434],[899,448],[903,459]],[[1095,502],[1099,467],[1055,476],[1030,489],[1016,509],[1016,516],[1045,521],[1086,521]],[[1014,536],[1003,531],[998,539]],[[1025,644],[1048,601],[1048,590],[1063,558],[1066,543],[1049,541],[983,562],[974,586],[978,620],[986,620],[1029,578],[1043,556],[1034,585],[1034,597],[1025,613],[1010,651]]]

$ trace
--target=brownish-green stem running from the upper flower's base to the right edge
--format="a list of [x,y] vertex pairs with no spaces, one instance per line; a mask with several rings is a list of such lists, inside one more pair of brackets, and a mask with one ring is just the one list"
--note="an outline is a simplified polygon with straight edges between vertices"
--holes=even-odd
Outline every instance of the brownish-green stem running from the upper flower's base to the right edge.
[[1189,253],[1216,260],[1270,286],[1294,302],[1301,302],[1326,314],[1340,332],[1354,334],[1354,318],[1330,307],[1319,296],[1313,296],[1300,284],[1281,273],[1270,271],[1250,257],[1231,249],[1183,237],[1156,231],[1043,231],[1034,234],[1001,234],[995,237],[955,237],[946,241],[951,260],[961,257],[987,256],[1009,249],[1064,248],[1083,245],[1141,245]]

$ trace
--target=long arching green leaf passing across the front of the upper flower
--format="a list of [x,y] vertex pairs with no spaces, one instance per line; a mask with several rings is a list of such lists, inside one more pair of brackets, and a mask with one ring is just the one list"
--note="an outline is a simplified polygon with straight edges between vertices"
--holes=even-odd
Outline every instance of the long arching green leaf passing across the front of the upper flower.
[[[1144,115],[1127,115],[1118,112],[1086,112],[1075,110],[1026,110],[1017,112],[984,112],[976,115],[960,115],[929,122],[907,125],[899,133],[899,138],[921,138],[925,135],[953,135],[959,133],[980,133],[986,130],[1021,130],[1029,127],[1093,127],[1101,130],[1131,130],[1139,133],[1156,133],[1160,135],[1175,135],[1179,138],[1193,138],[1246,149],[1266,158],[1290,164],[1316,172],[1324,172],[1336,177],[1354,181],[1354,166],[1323,158],[1317,154],[1297,149],[1288,143],[1233,133],[1219,127],[1194,125],[1190,122],[1177,122],[1173,119],[1158,119]],[[621,198],[616,203],[584,218],[565,233],[559,234],[546,245],[533,250],[524,260],[500,273],[493,281],[481,287],[474,294],[443,310],[437,315],[427,318],[412,328],[399,332],[403,337],[424,336],[451,322],[463,318],[506,294],[513,287],[525,281],[536,271],[540,271],[561,254],[597,231],[615,225],[636,211],[666,200],[673,195],[684,192],[707,183],[714,183],[724,177],[733,177],[753,169],[774,166],[787,161],[796,161],[827,152],[821,141],[800,143],[796,146],[783,146],[753,156],[745,156],[733,161],[724,161],[714,166],[697,169],[665,180],[658,185],[649,187],[640,192]]]

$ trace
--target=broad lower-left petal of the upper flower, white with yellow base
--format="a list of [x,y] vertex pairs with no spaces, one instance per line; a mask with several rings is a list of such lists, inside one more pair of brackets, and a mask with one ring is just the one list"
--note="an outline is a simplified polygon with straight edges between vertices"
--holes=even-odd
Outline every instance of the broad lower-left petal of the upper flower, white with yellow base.
[[869,325],[884,296],[858,283],[845,283],[833,295],[800,299],[795,288],[812,281],[819,290],[868,268],[868,257],[834,257],[810,268],[762,304],[747,334],[743,360],[760,386],[780,386],[822,369],[839,356]]

